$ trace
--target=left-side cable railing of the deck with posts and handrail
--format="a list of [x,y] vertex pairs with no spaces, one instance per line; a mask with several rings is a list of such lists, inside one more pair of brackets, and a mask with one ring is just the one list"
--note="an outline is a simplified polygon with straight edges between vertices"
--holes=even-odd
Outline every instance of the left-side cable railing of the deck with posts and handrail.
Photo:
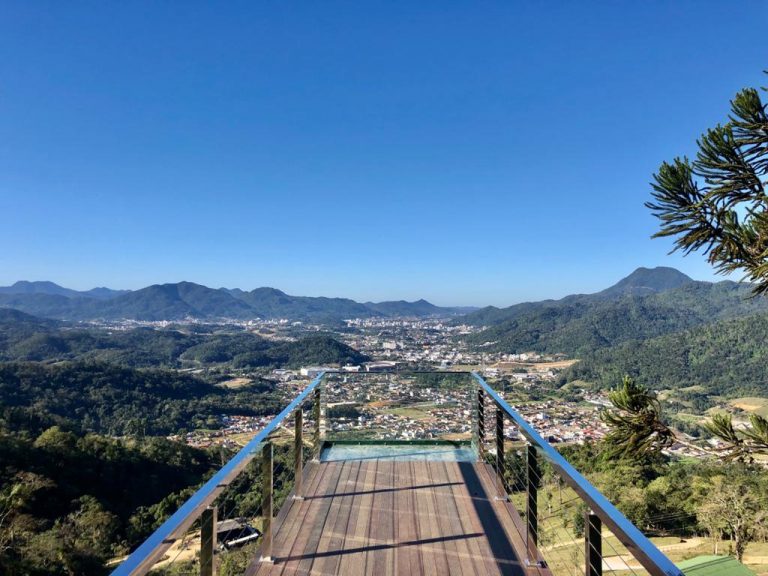
[[[271,556],[274,518],[316,457],[320,431],[317,376],[288,406],[189,498],[113,572],[113,576],[242,573]],[[299,413],[301,415],[299,415]],[[304,415],[311,415],[305,420]],[[305,425],[306,422],[306,425]],[[305,431],[311,456],[305,456]],[[301,465],[299,465],[301,463]],[[299,482],[299,485],[301,482]],[[221,541],[218,541],[221,540]]]

